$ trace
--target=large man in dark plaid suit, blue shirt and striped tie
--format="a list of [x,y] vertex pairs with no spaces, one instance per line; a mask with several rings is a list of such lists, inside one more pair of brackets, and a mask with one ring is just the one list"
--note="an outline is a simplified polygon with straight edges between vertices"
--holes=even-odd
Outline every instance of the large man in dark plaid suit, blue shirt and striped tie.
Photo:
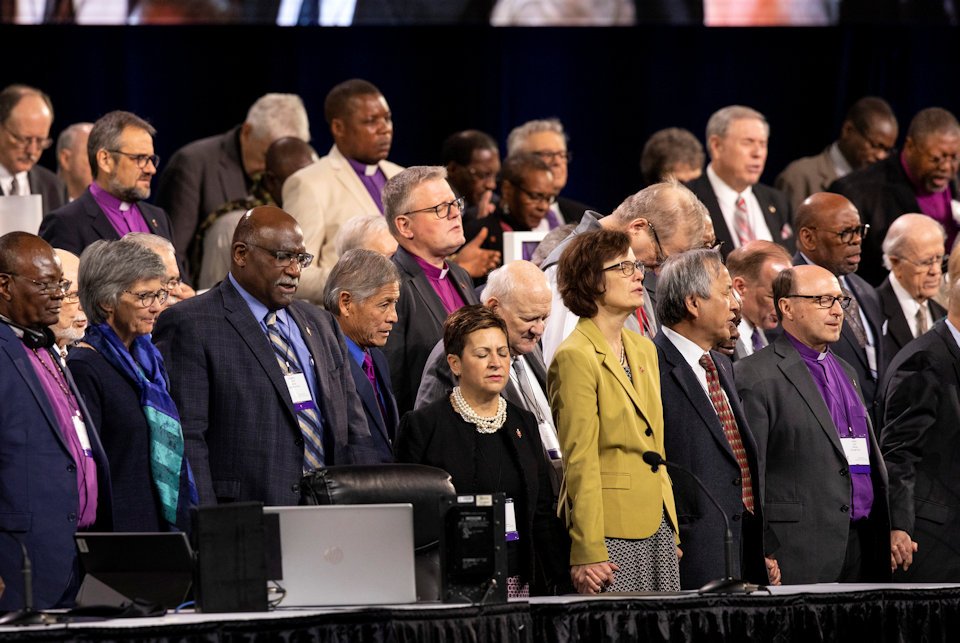
[[160,314],[153,337],[201,504],[295,505],[304,472],[377,461],[340,328],[294,301],[311,259],[293,217],[254,208],[227,278]]

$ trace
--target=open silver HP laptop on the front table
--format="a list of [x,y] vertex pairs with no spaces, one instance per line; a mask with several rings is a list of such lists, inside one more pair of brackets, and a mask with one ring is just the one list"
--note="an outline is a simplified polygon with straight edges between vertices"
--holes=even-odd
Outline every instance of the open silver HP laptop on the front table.
[[280,607],[415,603],[413,505],[264,507],[280,518]]

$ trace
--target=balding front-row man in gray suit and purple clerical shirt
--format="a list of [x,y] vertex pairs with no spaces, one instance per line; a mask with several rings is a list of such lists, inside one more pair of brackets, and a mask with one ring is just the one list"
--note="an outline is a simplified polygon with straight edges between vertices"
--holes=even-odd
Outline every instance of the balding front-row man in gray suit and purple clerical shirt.
[[[854,370],[830,345],[850,305],[819,266],[773,282],[783,334],[734,365],[766,459],[764,513],[784,584],[890,578],[887,473]],[[765,538],[770,535],[765,534]]]

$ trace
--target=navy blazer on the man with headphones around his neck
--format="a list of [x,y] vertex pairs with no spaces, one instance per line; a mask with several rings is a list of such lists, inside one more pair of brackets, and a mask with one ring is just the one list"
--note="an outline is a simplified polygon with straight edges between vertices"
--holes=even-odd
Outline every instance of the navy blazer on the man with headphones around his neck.
[[[80,587],[76,545],[77,473],[73,456],[20,339],[0,323],[0,577],[7,588],[0,610],[23,607],[19,541],[33,563],[38,609],[69,606]],[[58,364],[60,360],[54,357]],[[109,529],[110,470],[90,414],[64,369],[80,405],[97,462],[97,529]]]

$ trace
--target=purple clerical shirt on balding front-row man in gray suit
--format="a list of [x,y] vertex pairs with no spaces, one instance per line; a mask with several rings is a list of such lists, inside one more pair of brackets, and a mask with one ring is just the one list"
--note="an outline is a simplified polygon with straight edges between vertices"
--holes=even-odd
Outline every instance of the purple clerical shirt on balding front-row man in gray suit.
[[[867,453],[870,448],[870,434],[867,428],[867,409],[853,383],[847,378],[837,357],[829,350],[818,353],[802,343],[790,333],[784,332],[803,358],[807,370],[817,384],[827,410],[836,426],[840,440],[861,438],[866,442]],[[849,457],[849,456],[848,456]],[[873,480],[870,477],[869,464],[850,464],[850,519],[860,520],[870,515],[873,507]]]

